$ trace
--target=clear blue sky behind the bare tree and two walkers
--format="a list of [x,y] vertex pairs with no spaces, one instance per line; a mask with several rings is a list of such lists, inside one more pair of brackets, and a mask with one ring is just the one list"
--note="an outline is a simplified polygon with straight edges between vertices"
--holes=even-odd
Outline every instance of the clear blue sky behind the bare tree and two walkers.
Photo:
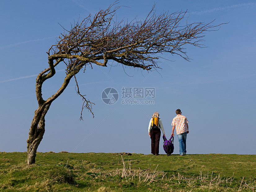
[[[96,3],[95,3],[96,2]],[[188,118],[188,154],[256,154],[256,2],[255,1],[125,1],[117,19],[143,19],[156,3],[157,13],[188,10],[188,22],[222,25],[204,37],[207,48],[187,46],[185,61],[161,55],[162,69],[145,72],[121,65],[93,65],[77,75],[80,91],[94,102],[95,118],[86,110],[79,121],[82,99],[74,79],[52,103],[46,115],[45,134],[38,151],[130,152],[150,154],[148,124],[158,111],[166,136],[180,108]],[[0,3],[0,151],[27,151],[30,124],[37,109],[35,79],[47,66],[46,51],[64,28],[112,1],[2,1]],[[59,23],[59,24],[58,24]],[[111,63],[110,63],[111,64]],[[65,66],[43,86],[48,98],[59,89]],[[105,104],[101,94],[113,87],[119,98]],[[155,88],[154,98],[131,98],[154,104],[122,104],[122,88]],[[160,141],[160,153],[164,154]],[[174,137],[174,154],[178,139]]]

